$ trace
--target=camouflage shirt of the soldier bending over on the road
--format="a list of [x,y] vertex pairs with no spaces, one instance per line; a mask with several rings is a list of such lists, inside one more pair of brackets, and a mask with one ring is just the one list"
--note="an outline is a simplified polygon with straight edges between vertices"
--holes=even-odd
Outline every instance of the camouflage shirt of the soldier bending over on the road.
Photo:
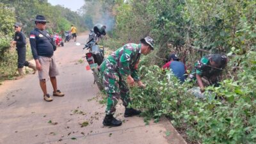
[[141,44],[126,44],[106,58],[100,65],[100,71],[106,68],[110,72],[117,72],[121,77],[131,75],[134,81],[139,81],[138,71],[134,66],[140,60]]

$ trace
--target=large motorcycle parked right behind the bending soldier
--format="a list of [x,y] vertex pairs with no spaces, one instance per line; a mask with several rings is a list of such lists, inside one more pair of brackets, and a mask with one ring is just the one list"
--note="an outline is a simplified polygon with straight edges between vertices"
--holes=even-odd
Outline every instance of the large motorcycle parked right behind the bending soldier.
[[[104,47],[96,44],[97,37],[92,38],[87,42],[83,49],[88,49],[85,57],[89,64],[88,69],[91,69],[94,77],[94,84],[96,83],[99,90],[103,90],[101,74],[99,72],[99,66],[104,61]],[[77,43],[76,45],[81,45]]]

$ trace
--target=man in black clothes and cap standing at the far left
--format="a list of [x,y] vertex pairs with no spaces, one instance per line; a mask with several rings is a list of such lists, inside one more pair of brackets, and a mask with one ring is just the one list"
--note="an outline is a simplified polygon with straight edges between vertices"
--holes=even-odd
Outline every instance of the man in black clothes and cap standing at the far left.
[[36,73],[36,67],[33,63],[29,63],[26,61],[26,36],[21,31],[22,24],[20,22],[16,22],[14,25],[15,28],[15,36],[12,41],[12,45],[16,45],[16,50],[18,53],[18,71],[19,76],[15,79],[21,79],[24,76],[23,67],[29,67],[34,70],[33,74]]

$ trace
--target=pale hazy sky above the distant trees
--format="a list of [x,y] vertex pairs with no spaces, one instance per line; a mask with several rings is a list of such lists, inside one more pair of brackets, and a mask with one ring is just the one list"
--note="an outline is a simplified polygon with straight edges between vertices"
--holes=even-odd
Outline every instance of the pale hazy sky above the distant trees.
[[48,2],[54,6],[60,4],[65,8],[70,8],[72,11],[77,11],[77,9],[84,5],[84,0],[48,0]]

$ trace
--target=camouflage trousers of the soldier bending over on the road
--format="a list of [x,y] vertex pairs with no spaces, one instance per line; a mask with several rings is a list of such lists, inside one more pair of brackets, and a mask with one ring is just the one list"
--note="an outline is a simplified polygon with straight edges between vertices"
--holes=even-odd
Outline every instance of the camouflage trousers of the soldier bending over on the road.
[[106,108],[107,115],[113,115],[116,111],[116,104],[121,98],[125,107],[131,106],[131,99],[129,95],[129,87],[126,79],[122,79],[117,72],[111,72],[108,68],[102,74],[102,84],[108,93],[108,103]]

